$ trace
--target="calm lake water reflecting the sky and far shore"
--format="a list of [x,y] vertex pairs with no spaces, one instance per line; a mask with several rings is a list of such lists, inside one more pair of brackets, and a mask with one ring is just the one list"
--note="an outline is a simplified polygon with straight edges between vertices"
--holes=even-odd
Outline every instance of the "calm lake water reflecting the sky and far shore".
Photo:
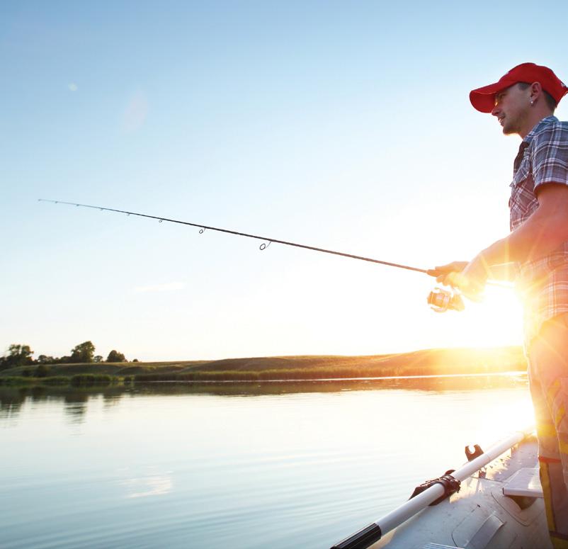
[[0,547],[329,548],[531,421],[524,375],[0,387]]

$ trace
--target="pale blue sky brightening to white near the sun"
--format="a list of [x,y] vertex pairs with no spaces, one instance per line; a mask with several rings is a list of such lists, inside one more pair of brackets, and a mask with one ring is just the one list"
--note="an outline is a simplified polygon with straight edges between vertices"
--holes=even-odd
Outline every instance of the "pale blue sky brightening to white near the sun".
[[437,314],[423,273],[38,198],[418,268],[472,259],[509,232],[520,140],[469,91],[521,62],[566,81],[561,21],[564,1],[2,2],[0,353],[521,344],[511,290]]

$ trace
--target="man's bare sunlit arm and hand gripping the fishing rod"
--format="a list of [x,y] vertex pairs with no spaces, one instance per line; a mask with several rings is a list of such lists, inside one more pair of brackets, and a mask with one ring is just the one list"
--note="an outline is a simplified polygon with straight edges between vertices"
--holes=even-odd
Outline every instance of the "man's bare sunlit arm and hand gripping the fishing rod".
[[477,293],[494,265],[545,256],[568,240],[568,186],[547,183],[537,189],[538,208],[507,237],[482,250],[461,273],[450,273],[447,283]]

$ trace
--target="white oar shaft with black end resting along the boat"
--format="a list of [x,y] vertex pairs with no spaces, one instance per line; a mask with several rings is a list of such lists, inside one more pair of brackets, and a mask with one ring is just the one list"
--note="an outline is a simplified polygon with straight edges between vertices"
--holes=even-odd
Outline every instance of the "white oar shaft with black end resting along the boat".
[[[498,458],[499,455],[509,450],[509,448],[521,442],[523,438],[532,434],[533,431],[533,426],[524,431],[516,431],[507,438],[504,438],[503,441],[491,446],[489,450],[482,453],[477,458],[465,463],[462,468],[454,471],[451,476],[460,482],[465,480],[474,472]],[[369,524],[369,526],[365,526],[365,528],[362,528],[352,536],[336,543],[331,549],[366,549],[370,545],[373,545],[375,541],[380,540],[385,533],[390,532],[404,521],[407,521],[411,516],[414,516],[416,513],[435,502],[436,499],[443,497],[444,494],[445,487],[440,483],[436,483],[425,489],[424,492],[409,499],[407,502],[397,507],[397,509],[394,509],[394,511],[383,516],[382,519]]]

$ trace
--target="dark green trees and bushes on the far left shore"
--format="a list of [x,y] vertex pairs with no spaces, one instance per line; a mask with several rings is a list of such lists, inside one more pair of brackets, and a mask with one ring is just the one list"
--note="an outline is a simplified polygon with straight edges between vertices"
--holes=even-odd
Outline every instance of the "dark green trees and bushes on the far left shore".
[[[119,351],[113,349],[108,353],[106,361],[103,360],[101,355],[95,354],[95,346],[92,341],[84,341],[71,349],[71,354],[68,356],[46,356],[40,355],[34,359],[33,354],[35,351],[30,349],[29,345],[12,344],[8,347],[7,353],[0,356],[0,370],[12,368],[13,366],[30,366],[31,364],[69,364],[69,363],[97,363],[97,362],[128,362]],[[135,358],[132,362],[138,362]]]

